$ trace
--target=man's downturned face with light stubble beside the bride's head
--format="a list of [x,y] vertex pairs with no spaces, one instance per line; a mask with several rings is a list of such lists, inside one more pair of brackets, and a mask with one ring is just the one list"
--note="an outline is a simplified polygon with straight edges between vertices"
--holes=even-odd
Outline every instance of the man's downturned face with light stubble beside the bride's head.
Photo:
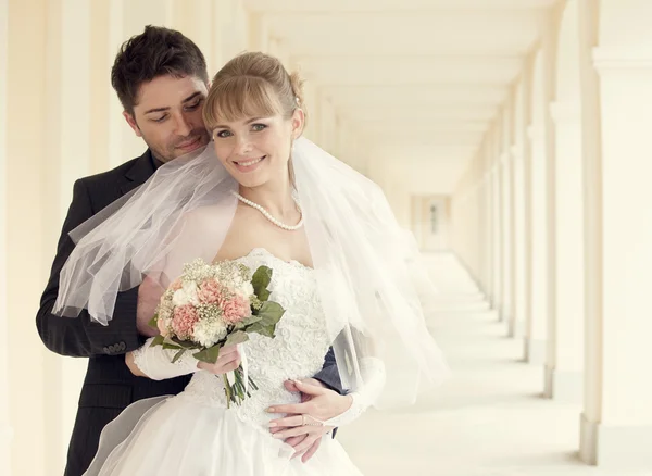
[[154,156],[168,162],[209,143],[201,115],[206,93],[197,77],[159,76],[140,86],[134,114],[124,116]]

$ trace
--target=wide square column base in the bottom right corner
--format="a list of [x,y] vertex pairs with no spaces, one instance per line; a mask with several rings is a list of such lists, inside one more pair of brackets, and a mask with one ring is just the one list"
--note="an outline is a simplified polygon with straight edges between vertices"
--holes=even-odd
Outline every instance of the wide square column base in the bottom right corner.
[[579,456],[605,468],[650,469],[652,425],[611,426],[580,417]]

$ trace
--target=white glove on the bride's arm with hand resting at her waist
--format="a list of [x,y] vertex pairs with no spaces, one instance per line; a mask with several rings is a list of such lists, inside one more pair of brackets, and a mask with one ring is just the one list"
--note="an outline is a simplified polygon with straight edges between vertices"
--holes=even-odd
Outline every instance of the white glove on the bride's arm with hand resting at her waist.
[[385,364],[376,358],[363,358],[360,361],[360,373],[364,386],[358,391],[349,393],[353,403],[344,413],[324,422],[328,426],[342,426],[352,423],[362,415],[366,409],[374,404],[385,387]]

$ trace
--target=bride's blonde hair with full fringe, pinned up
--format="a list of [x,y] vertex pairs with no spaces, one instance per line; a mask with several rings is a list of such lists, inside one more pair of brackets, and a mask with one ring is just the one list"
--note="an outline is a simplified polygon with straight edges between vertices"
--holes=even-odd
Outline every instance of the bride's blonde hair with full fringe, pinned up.
[[266,117],[280,114],[290,118],[303,103],[303,79],[289,74],[280,61],[261,52],[242,53],[217,72],[203,108],[206,128],[221,121]]

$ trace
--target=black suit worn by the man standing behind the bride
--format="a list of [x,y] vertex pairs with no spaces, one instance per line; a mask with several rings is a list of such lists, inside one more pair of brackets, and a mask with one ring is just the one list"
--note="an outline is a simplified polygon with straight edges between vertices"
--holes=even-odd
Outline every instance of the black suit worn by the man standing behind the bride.
[[[38,331],[48,349],[61,355],[89,358],[65,476],[79,476],[87,469],[97,451],[102,428],[126,406],[149,397],[179,393],[190,380],[189,376],[150,380],[135,377],[127,368],[124,354],[146,340],[136,329],[138,288],[117,295],[113,320],[108,326],[91,322],[86,310],[78,318],[52,314],[59,292],[59,274],[74,248],[68,233],[142,185],[159,165],[160,162],[148,150],[140,158],[112,171],[77,180],[73,189],[73,201],[36,316]],[[333,350],[326,355],[324,369],[315,378],[336,390],[340,389]]]

